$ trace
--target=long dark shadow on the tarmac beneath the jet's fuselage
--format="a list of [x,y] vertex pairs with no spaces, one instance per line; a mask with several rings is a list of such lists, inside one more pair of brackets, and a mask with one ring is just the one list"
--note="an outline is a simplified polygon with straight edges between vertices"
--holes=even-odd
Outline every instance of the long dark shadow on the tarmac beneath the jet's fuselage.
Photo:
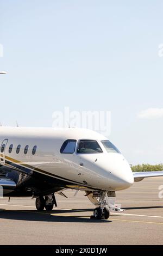
[[[102,223],[112,222],[109,220],[95,220],[90,215],[81,215],[82,211],[90,211],[90,209],[79,210],[58,210],[53,211],[37,211],[37,210],[5,210],[0,209],[0,220],[17,220],[17,221],[42,221],[42,222],[85,222],[85,223]],[[93,209],[91,209],[93,212]],[[73,212],[79,213],[71,216]],[[56,215],[55,215],[56,214]],[[60,214],[60,215],[59,215]],[[66,214],[69,214],[66,216]],[[62,216],[64,215],[64,216]]]

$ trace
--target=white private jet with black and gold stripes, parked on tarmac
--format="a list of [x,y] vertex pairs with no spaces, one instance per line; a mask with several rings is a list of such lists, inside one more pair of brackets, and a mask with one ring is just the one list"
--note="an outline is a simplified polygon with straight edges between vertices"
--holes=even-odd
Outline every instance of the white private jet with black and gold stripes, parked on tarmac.
[[[36,198],[36,209],[57,206],[55,193],[66,188],[86,191],[98,206],[93,217],[109,218],[110,198],[146,177],[163,172],[133,173],[108,138],[86,129],[0,127],[0,185],[5,197]],[[116,206],[115,206],[116,207]]]

